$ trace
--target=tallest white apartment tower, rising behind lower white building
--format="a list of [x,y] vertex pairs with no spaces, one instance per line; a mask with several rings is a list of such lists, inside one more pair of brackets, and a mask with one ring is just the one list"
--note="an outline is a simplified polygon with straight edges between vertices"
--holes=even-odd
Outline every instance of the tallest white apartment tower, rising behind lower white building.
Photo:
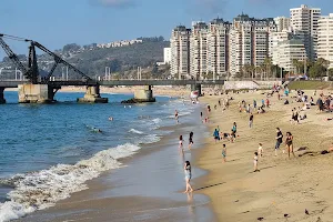
[[317,21],[321,17],[321,9],[309,8],[302,4],[301,8],[290,10],[291,27],[293,30],[302,31],[305,36],[304,46],[307,58],[311,60],[316,59],[316,44],[317,44]]

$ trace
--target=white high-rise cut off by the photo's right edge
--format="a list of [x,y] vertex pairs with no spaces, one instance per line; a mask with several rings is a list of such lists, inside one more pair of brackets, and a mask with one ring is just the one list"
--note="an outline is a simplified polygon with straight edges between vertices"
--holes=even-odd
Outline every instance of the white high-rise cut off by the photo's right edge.
[[317,58],[330,61],[330,68],[333,68],[333,13],[319,20]]

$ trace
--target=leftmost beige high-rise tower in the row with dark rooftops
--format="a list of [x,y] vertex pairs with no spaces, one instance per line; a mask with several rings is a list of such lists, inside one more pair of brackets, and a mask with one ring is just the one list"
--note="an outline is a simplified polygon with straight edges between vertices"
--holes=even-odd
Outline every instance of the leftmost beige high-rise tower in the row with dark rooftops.
[[190,36],[191,29],[179,26],[172,30],[171,46],[171,75],[184,79],[190,74]]

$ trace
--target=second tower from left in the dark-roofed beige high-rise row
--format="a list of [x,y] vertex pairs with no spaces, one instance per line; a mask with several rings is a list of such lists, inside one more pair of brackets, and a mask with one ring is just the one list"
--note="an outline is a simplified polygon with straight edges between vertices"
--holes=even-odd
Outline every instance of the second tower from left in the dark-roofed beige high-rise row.
[[205,22],[195,22],[190,37],[190,74],[203,79],[208,74],[208,32]]

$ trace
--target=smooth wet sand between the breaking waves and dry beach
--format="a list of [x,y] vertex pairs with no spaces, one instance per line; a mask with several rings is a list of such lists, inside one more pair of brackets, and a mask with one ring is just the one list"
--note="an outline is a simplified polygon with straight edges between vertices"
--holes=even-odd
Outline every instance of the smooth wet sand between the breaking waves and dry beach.
[[[73,193],[53,208],[18,221],[215,221],[208,196],[182,193],[185,189],[183,161],[194,161],[206,131],[196,119],[191,124],[175,127],[173,133],[158,143],[144,145],[138,154],[122,161],[124,168],[88,182],[89,190]],[[178,138],[184,134],[186,150],[190,131],[194,132],[195,144],[183,159]],[[195,188],[195,180],[205,172],[193,167]]]

